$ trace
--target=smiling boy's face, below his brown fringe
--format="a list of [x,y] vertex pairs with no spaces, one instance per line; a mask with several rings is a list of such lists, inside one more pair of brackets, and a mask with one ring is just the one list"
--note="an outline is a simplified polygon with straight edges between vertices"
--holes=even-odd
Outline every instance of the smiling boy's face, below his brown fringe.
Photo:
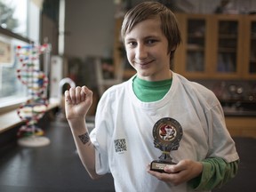
[[159,18],[144,20],[124,36],[127,59],[137,76],[147,81],[172,77],[168,41],[161,30]]

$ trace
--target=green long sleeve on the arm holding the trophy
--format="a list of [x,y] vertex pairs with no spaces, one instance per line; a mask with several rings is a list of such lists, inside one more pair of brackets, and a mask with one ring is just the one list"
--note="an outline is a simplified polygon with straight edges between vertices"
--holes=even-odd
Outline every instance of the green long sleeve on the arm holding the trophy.
[[204,167],[202,174],[189,180],[188,186],[195,190],[212,190],[220,188],[236,176],[239,160],[226,163],[224,159],[215,157],[204,159],[201,163]]

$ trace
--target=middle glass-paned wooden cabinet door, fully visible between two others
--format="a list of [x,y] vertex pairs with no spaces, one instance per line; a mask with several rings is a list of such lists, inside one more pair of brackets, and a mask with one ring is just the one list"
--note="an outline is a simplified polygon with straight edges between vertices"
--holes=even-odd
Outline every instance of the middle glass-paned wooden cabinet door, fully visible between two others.
[[238,15],[215,15],[212,21],[212,71],[215,77],[242,76],[243,18]]

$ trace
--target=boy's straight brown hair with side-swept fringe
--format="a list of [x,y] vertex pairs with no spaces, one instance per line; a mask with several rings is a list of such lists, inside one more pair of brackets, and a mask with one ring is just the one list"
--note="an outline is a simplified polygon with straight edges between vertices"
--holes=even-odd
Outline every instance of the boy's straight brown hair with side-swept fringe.
[[158,2],[143,2],[126,12],[121,28],[123,43],[125,34],[129,33],[135,25],[156,17],[161,20],[161,29],[168,40],[168,53],[171,53],[172,59],[173,53],[181,42],[180,29],[173,12]]

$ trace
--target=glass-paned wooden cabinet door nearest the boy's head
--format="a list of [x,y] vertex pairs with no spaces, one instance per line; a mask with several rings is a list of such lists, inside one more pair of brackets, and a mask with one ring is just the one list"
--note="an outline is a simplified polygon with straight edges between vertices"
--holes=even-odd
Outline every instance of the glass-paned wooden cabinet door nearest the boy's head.
[[204,78],[209,72],[209,16],[180,14],[177,18],[180,23],[182,44],[174,56],[174,70],[190,78]]

